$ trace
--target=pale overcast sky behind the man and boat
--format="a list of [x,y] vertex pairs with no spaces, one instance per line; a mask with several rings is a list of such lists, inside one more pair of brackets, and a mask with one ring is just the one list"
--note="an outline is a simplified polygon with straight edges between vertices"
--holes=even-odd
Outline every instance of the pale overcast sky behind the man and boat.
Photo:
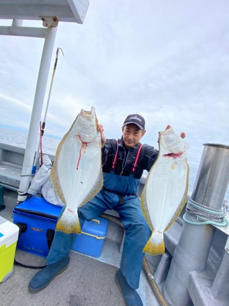
[[[0,36],[2,125],[28,128],[43,43]],[[156,148],[167,124],[185,131],[192,166],[203,143],[229,144],[227,0],[91,1],[82,25],[58,25],[44,110],[57,47],[65,57],[60,53],[45,133],[62,137],[81,108],[94,106],[107,138],[121,136],[131,113],[145,117],[142,143]]]

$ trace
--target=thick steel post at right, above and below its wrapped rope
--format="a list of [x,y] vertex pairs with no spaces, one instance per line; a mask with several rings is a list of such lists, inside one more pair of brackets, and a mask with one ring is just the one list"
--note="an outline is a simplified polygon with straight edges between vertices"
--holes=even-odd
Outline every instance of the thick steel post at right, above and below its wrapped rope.
[[[229,181],[229,146],[205,144],[191,199],[211,208],[221,208]],[[190,221],[196,218],[187,214]],[[163,287],[171,306],[191,304],[189,274],[206,268],[215,228],[184,222],[178,245]]]

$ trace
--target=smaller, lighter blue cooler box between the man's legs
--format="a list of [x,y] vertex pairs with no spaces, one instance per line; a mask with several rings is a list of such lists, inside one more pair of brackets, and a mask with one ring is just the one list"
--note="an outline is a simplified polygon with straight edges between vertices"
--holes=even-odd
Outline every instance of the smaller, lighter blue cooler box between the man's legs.
[[72,250],[99,257],[102,252],[107,226],[108,221],[100,217],[92,221],[85,221],[81,234],[76,234]]

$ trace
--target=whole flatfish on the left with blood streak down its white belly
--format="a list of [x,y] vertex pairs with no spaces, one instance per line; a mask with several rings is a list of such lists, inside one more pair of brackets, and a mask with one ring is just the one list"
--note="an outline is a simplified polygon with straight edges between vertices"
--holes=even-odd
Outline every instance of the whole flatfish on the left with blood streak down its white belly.
[[103,185],[101,134],[95,108],[81,109],[60,142],[51,169],[51,181],[66,206],[55,230],[80,233],[77,209],[90,201]]

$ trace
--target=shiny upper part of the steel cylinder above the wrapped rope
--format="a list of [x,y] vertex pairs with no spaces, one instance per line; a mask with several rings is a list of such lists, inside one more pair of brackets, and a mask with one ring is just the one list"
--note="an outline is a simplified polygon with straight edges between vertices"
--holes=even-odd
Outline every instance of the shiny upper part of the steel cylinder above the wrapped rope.
[[191,199],[220,209],[229,181],[229,146],[204,144]]

